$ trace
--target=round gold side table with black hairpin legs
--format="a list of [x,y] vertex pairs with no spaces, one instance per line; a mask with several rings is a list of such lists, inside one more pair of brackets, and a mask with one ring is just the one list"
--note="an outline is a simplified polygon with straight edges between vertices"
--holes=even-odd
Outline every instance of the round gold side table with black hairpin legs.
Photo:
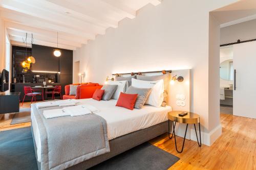
[[[175,147],[176,147],[176,151],[177,151],[178,153],[182,153],[182,151],[183,151],[188,124],[194,124],[195,131],[196,131],[196,136],[197,136],[196,124],[199,125],[200,143],[199,143],[199,141],[198,141],[198,137],[197,137],[197,143],[198,143],[199,147],[201,147],[201,145],[202,145],[202,143],[201,143],[201,129],[200,129],[200,116],[199,116],[198,114],[192,113],[192,112],[187,112],[187,115],[185,115],[185,116],[179,116],[180,113],[184,113],[184,112],[186,112],[186,111],[171,111],[171,112],[168,113],[168,135],[169,135],[169,138],[170,138],[170,139],[172,139],[173,136],[174,136],[174,139],[175,139]],[[173,124],[173,133],[172,133],[172,137],[170,137],[170,129],[169,129],[169,128],[170,128],[170,127],[169,127],[169,122],[170,122],[170,121],[171,121],[172,124]],[[175,122],[175,123],[174,123],[174,122]],[[176,143],[175,126],[176,126],[176,123],[177,123],[177,122],[178,122],[178,123],[182,123],[182,124],[187,124],[181,151],[178,151],[178,149],[177,149],[177,143]]]

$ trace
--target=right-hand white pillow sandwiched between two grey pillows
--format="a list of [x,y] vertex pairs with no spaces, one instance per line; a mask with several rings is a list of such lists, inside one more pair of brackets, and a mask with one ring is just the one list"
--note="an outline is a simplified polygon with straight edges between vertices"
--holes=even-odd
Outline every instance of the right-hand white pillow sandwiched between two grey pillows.
[[163,102],[163,91],[164,85],[163,80],[157,81],[144,81],[132,79],[132,86],[137,88],[152,88],[150,95],[146,100],[147,105],[152,105],[156,107],[160,107]]

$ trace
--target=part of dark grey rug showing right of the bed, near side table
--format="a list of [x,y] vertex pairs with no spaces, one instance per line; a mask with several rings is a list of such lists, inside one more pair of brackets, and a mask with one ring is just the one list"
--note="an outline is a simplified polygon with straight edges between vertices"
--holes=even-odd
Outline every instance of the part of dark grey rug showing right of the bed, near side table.
[[163,170],[168,169],[179,159],[180,158],[145,142],[138,147],[135,147],[90,168],[90,170]]

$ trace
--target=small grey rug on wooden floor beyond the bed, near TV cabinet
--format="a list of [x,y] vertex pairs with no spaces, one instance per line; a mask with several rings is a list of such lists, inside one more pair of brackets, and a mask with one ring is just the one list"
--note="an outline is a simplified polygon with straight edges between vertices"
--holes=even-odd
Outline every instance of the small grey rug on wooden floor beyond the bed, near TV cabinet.
[[31,122],[30,118],[30,108],[21,108],[18,113],[15,113],[11,125],[22,124],[26,122]]

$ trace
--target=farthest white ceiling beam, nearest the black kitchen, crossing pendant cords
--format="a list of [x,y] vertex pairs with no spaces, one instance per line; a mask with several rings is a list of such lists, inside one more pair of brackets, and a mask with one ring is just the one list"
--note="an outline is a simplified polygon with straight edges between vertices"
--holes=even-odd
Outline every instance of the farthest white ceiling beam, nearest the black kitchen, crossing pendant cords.
[[[7,32],[10,36],[26,37],[26,33],[19,32],[17,30],[7,29]],[[28,32],[27,37],[32,38],[32,34]],[[40,41],[48,41],[48,42],[52,42],[52,43],[57,43],[57,37],[33,35],[33,39],[40,40]],[[81,47],[81,44],[78,43],[78,42],[67,41],[67,40],[63,40],[63,39],[60,39],[60,38],[58,39],[58,43],[63,44],[63,45],[72,45],[72,46],[76,46],[76,47]]]

